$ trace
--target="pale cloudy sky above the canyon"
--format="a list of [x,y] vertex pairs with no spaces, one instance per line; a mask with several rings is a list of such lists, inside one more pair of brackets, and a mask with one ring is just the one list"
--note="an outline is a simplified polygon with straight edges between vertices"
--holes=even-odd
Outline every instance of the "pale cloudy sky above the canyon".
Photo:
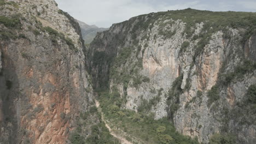
[[256,12],[256,0],[55,0],[59,8],[75,19],[110,27],[133,16],[158,11],[193,8],[211,11]]

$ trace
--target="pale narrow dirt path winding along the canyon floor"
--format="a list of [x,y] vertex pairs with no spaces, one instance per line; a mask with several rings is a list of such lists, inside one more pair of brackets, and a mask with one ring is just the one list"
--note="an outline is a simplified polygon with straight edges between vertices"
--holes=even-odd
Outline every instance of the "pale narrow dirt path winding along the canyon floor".
[[110,134],[113,135],[115,138],[119,139],[122,144],[133,144],[133,143],[131,143],[130,141],[127,141],[127,140],[125,139],[125,137],[120,136],[120,135],[117,135],[117,134],[114,133],[114,131],[109,127],[109,125],[106,123],[106,121],[105,121],[105,119],[104,119],[103,113],[102,113],[102,111],[100,110],[100,103],[99,103],[97,100],[95,100],[95,102],[96,102],[96,107],[98,108],[98,110],[99,110],[100,113],[101,113],[102,121],[105,123],[106,127],[107,127],[108,130],[110,131]]

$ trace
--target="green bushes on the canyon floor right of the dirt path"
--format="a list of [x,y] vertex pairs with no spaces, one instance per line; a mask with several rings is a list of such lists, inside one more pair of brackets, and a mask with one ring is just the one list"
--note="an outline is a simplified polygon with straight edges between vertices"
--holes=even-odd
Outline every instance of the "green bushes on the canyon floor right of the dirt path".
[[[159,89],[158,92],[162,92]],[[115,124],[115,127],[126,131],[132,137],[137,137],[144,143],[194,143],[188,136],[179,134],[174,125],[167,118],[154,120],[153,115],[146,112],[138,112],[120,109],[116,97],[108,92],[99,92],[102,111],[107,120]],[[139,133],[138,133],[139,131]]]

